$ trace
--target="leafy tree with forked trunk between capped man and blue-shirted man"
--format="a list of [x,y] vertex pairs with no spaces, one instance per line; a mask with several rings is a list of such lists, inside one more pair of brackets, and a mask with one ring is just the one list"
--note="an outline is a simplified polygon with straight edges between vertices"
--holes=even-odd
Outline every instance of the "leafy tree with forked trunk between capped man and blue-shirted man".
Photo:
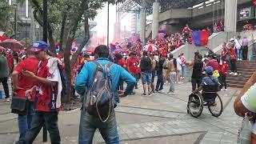
[[[55,53],[54,43],[60,43],[60,50],[64,52],[65,71],[68,82],[66,102],[70,102],[71,94],[71,70],[77,62],[78,54],[90,39],[89,19],[97,15],[98,9],[104,6],[105,2],[114,4],[123,0],[49,0],[48,1],[48,41]],[[24,2],[24,0],[19,0]],[[33,7],[34,19],[43,26],[42,21],[42,2],[43,0],[30,0]],[[70,59],[70,47],[76,36],[79,25],[84,26],[84,38],[78,50]]]

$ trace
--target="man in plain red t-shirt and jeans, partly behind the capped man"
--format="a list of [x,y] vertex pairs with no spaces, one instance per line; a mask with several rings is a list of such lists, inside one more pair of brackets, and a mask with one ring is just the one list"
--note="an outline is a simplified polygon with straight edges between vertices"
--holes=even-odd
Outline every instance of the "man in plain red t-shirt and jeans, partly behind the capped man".
[[14,72],[12,73],[12,80],[13,80],[13,102],[14,98],[16,101],[19,101],[20,98],[26,99],[27,106],[25,106],[26,114],[22,113],[19,110],[12,110],[13,113],[18,114],[18,129],[19,129],[19,141],[22,142],[26,135],[26,131],[30,130],[32,116],[34,115],[34,97],[35,97],[35,90],[30,91],[36,85],[36,81],[34,79],[30,79],[22,74],[23,70],[29,70],[34,74],[37,73],[38,70],[38,58],[35,58],[33,53],[30,50],[26,51],[26,58],[22,62],[19,62],[18,65],[15,67]]

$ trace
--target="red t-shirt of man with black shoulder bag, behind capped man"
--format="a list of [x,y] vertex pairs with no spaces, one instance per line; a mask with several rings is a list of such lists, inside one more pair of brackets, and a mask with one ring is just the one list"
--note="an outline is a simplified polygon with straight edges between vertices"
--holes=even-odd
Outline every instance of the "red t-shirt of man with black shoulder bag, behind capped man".
[[[37,58],[26,58],[22,62],[19,62],[18,65],[15,67],[16,71],[18,71],[18,82],[17,86],[21,87],[22,89],[19,89],[15,91],[18,97],[20,98],[27,98],[26,96],[26,90],[30,90],[33,86],[36,85],[36,81],[31,78],[27,78],[22,74],[22,70],[28,70],[33,72],[34,74],[37,74],[38,70],[38,59]],[[35,90],[31,94],[31,99],[30,101],[34,101],[35,97]]]

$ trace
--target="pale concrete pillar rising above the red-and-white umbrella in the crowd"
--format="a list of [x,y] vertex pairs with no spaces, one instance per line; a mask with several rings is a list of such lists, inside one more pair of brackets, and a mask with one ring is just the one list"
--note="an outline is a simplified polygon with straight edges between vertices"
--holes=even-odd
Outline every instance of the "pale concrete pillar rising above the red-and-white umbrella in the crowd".
[[159,2],[153,3],[152,39],[158,35],[159,30]]

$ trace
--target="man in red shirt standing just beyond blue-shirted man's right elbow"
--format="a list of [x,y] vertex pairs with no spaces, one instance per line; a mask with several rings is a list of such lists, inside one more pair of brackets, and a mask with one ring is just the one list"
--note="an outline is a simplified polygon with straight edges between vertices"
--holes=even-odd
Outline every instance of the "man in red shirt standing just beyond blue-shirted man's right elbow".
[[138,74],[140,73],[140,68],[138,67],[139,60],[136,58],[136,52],[130,53],[130,58],[127,60],[128,71],[134,78],[136,78],[136,85],[135,89],[138,89],[137,82],[138,82]]

